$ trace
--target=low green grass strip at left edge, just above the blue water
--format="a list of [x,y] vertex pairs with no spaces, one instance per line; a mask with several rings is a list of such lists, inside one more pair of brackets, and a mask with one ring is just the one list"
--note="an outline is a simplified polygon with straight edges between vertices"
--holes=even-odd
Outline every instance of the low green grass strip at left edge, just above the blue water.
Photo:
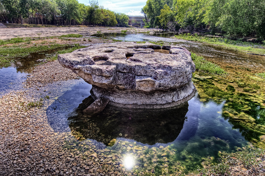
[[11,62],[14,58],[17,57],[26,57],[29,53],[34,52],[43,52],[56,48],[63,47],[62,44],[52,44],[49,46],[33,46],[29,48],[22,47],[0,47],[0,68],[8,67],[11,65]]

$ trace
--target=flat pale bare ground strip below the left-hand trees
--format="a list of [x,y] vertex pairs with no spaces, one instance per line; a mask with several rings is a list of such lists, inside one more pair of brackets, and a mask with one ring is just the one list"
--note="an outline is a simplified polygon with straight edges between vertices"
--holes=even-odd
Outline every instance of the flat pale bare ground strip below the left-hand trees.
[[15,37],[50,37],[65,34],[94,34],[120,33],[127,30],[127,33],[149,32],[152,29],[145,28],[119,28],[119,27],[58,27],[58,28],[4,28],[0,30],[0,39],[11,39]]

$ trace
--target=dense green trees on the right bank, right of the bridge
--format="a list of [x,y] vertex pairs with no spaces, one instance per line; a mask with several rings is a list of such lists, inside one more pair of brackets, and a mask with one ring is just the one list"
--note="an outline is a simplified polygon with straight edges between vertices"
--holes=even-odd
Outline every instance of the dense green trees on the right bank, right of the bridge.
[[147,0],[146,27],[265,39],[265,0]]

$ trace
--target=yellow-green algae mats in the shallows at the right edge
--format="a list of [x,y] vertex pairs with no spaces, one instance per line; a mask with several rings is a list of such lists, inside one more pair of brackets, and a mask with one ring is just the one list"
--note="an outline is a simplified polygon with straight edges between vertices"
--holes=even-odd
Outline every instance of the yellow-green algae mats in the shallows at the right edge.
[[[196,73],[199,75],[199,73]],[[250,76],[248,76],[250,77]],[[251,77],[250,77],[251,78]],[[223,79],[221,79],[223,81]],[[198,90],[201,101],[214,101],[223,103],[222,116],[228,119],[233,128],[239,129],[242,135],[253,144],[264,148],[260,136],[265,134],[265,109],[264,95],[261,85],[247,83],[240,79],[235,83],[226,81],[226,87],[218,78],[198,79],[193,77],[193,82]],[[238,88],[234,87],[235,85]],[[241,92],[240,88],[243,88]]]

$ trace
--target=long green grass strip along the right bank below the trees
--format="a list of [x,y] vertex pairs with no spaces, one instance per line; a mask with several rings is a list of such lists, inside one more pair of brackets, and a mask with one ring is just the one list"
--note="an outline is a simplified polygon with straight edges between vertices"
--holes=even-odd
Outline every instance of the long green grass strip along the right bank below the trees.
[[209,44],[222,45],[228,48],[233,48],[239,51],[253,52],[256,54],[265,54],[265,45],[251,42],[242,42],[240,40],[231,40],[221,37],[207,37],[199,35],[179,34],[175,35],[174,38],[184,39],[196,42],[205,42]]

